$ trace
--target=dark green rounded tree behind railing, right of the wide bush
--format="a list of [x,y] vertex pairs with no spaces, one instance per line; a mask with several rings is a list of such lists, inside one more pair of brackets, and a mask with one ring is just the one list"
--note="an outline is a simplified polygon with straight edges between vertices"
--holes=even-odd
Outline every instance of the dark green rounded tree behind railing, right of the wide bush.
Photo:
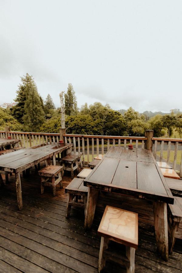
[[126,135],[126,122],[122,114],[110,110],[106,115],[103,130],[106,136]]

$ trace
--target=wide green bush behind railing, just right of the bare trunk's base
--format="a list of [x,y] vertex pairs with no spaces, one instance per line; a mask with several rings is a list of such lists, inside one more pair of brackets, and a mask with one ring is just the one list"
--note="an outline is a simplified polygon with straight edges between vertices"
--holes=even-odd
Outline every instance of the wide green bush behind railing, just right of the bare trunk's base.
[[93,120],[90,115],[68,116],[66,119],[66,132],[72,134],[102,135],[103,124],[100,120]]

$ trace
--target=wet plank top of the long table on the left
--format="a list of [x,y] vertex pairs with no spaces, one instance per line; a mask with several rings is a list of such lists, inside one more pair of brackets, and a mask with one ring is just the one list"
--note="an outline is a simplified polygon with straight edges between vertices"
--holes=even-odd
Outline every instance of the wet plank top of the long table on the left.
[[25,170],[40,161],[43,161],[58,152],[69,149],[72,144],[68,143],[52,143],[46,146],[35,146],[28,149],[22,149],[11,153],[7,153],[0,157],[0,170],[19,172]]

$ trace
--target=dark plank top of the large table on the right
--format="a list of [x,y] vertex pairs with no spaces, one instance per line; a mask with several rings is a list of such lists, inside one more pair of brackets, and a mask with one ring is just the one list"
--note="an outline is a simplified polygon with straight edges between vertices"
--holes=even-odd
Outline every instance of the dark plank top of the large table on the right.
[[173,204],[173,195],[153,154],[145,149],[111,147],[84,180],[99,190]]

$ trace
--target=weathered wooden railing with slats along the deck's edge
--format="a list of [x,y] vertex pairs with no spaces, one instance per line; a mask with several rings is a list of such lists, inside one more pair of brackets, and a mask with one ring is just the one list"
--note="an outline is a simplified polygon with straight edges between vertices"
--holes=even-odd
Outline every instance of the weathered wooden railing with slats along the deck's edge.
[[[20,139],[20,145],[22,147],[32,147],[42,143],[55,143],[59,142],[59,133],[35,133],[35,132],[13,132],[13,131],[0,131],[1,137],[5,135],[11,136],[15,139]],[[72,143],[73,151],[83,152],[83,164],[88,164],[94,157],[104,155],[111,146],[123,146],[126,147],[128,144],[133,144],[134,147],[141,147],[142,149],[147,144],[147,137],[136,137],[136,136],[95,136],[95,135],[74,135],[74,134],[63,134],[66,143]],[[155,138],[150,137],[151,143],[153,143],[153,155],[157,161],[167,161],[171,164],[173,169],[182,177],[182,155],[180,158],[179,146],[182,145],[182,139],[171,139],[171,138]],[[167,148],[164,150],[165,145]],[[171,146],[174,145],[174,151]],[[171,160],[171,155],[174,154],[174,159]],[[181,149],[182,154],[182,149]]]

